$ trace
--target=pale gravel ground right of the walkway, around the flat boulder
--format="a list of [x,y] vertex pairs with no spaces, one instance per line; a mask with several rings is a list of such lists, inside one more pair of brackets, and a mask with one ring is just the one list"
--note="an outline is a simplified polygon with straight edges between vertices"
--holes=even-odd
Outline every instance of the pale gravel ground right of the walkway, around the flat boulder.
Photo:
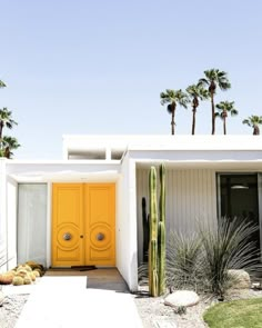
[[[262,290],[232,290],[228,300],[262,297]],[[187,308],[187,312],[179,315],[175,309],[165,306],[163,297],[149,297],[142,290],[134,295],[138,311],[142,318],[144,328],[177,327],[177,328],[206,328],[203,321],[203,312],[218,301],[201,300],[196,306]],[[173,326],[171,326],[173,324]]]

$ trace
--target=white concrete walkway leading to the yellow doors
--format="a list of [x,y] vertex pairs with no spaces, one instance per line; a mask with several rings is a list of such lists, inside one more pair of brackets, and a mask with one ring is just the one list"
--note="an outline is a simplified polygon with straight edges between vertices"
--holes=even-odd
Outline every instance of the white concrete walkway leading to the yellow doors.
[[[16,328],[142,328],[133,298],[122,285],[120,288],[119,278],[112,280],[111,274],[110,284],[110,276],[105,279],[97,274],[95,279],[95,271],[90,276],[93,276],[90,282],[95,281],[94,288],[92,284],[87,288],[87,272],[85,276],[42,277],[32,286]],[[98,288],[99,279],[104,289]]]

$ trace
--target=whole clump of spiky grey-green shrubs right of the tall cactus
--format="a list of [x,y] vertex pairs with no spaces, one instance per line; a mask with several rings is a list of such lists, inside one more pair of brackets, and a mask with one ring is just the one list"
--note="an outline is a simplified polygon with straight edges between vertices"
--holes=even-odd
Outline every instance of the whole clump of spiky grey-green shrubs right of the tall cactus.
[[230,269],[250,275],[261,270],[260,251],[252,236],[258,227],[248,220],[221,218],[216,228],[200,226],[198,233],[171,233],[167,251],[169,289],[194,289],[223,300],[235,284]]

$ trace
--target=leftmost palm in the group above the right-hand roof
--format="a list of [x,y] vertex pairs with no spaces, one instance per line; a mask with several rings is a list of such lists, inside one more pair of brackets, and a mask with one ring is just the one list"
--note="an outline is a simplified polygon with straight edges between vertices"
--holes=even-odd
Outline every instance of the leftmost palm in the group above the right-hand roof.
[[182,106],[183,108],[188,108],[187,103],[189,102],[189,97],[181,89],[180,90],[171,90],[167,89],[165,92],[160,93],[161,105],[168,103],[168,112],[171,113],[171,135],[174,135],[174,116],[177,105]]

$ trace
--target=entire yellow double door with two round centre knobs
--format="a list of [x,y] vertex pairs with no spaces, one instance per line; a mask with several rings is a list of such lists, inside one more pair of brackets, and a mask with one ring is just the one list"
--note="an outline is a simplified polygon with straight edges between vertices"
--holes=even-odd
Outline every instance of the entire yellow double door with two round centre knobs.
[[115,265],[114,183],[53,183],[52,267]]

